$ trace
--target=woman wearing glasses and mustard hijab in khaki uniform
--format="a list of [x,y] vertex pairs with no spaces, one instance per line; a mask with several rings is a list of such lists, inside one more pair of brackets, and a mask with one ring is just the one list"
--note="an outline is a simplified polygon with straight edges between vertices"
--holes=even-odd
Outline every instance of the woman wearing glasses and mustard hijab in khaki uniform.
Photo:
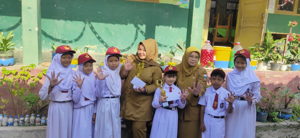
[[182,56],[182,63],[176,65],[177,86],[188,89],[183,109],[178,108],[178,138],[201,138],[199,96],[206,91],[207,72],[198,65],[200,51],[197,47],[188,47]]

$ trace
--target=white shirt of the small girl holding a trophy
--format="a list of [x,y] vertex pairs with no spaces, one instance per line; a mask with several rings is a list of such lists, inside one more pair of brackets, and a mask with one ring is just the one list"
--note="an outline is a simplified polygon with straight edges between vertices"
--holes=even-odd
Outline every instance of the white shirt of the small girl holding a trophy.
[[[165,83],[163,89],[166,93],[169,93],[170,92],[170,87],[172,87],[172,93],[175,93],[175,92],[176,93],[181,93],[180,89],[177,86],[175,86],[174,84],[172,86],[169,86],[167,83]],[[154,98],[153,98],[153,101],[152,101],[152,106],[154,108],[158,108],[158,107],[161,107],[163,105],[162,102],[158,101],[159,97],[161,97],[161,90],[159,88],[157,88],[155,90],[155,95],[154,95]],[[186,101],[184,101],[184,103],[181,103],[181,100],[178,99],[178,100],[174,100],[173,104],[171,104],[170,107],[178,106],[178,108],[182,109],[182,108],[184,108],[185,104],[186,104]]]

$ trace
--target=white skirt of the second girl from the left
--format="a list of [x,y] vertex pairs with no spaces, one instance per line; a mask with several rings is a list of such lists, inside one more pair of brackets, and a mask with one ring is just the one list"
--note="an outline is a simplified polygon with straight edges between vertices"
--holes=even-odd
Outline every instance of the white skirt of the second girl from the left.
[[92,138],[94,104],[73,109],[72,138]]

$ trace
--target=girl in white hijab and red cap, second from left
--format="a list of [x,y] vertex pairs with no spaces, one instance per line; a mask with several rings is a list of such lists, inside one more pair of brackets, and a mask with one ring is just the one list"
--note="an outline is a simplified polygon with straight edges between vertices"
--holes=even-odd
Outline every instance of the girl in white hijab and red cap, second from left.
[[[72,138],[92,137],[92,117],[96,101],[96,78],[93,63],[96,62],[88,53],[78,57],[78,69],[73,83],[73,124]],[[80,131],[79,131],[80,130]]]

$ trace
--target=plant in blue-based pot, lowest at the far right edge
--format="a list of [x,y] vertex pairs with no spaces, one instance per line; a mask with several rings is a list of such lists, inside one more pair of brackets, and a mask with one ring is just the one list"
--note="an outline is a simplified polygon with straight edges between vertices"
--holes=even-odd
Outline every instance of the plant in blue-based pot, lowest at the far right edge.
[[300,92],[292,93],[291,88],[285,87],[283,90],[279,91],[278,97],[279,99],[281,99],[278,108],[278,112],[279,112],[278,117],[280,119],[282,118],[289,119],[292,116],[292,108],[288,108],[288,106],[293,98],[300,99]]

